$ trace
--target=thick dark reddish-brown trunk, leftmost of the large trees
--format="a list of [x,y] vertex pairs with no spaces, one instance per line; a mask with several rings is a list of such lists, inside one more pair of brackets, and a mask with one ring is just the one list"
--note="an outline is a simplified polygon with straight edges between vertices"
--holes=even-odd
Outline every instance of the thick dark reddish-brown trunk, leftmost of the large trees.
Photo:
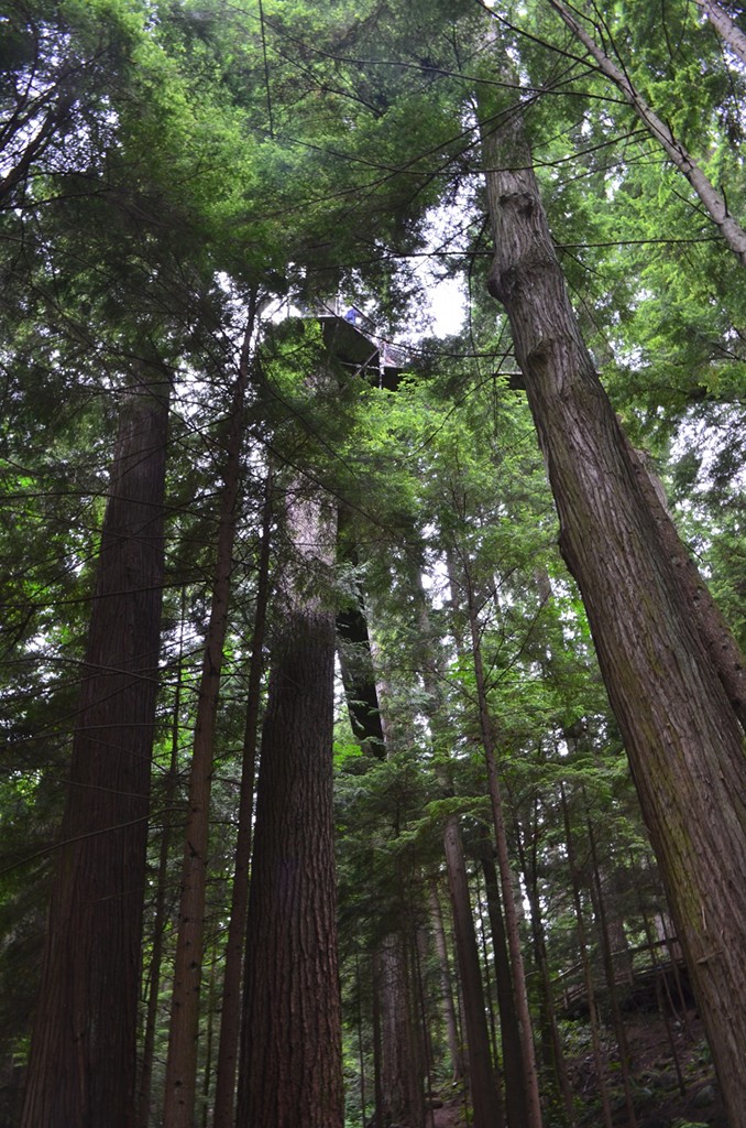
[[72,739],[24,1128],[136,1118],[150,765],[163,583],[168,385],[122,408]]

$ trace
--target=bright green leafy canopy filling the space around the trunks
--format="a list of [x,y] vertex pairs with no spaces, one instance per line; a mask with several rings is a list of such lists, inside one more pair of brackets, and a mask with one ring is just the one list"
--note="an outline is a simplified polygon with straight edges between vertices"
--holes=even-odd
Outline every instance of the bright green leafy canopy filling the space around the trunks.
[[[556,547],[533,422],[507,374],[509,332],[482,293],[489,248],[476,90],[496,115],[517,100],[526,107],[584,333],[744,642],[746,283],[689,186],[547,6],[503,5],[498,14],[510,24],[504,45],[518,88],[501,85],[489,17],[465,0],[265,0],[261,12],[220,0],[5,6],[0,997],[19,1056],[122,393],[143,368],[174,389],[154,905],[161,834],[169,820],[178,826],[185,802],[247,298],[256,294],[268,318],[276,297],[300,309],[344,293],[396,337],[416,321],[412,299],[429,285],[419,256],[434,241],[449,255],[438,270],[468,279],[469,327],[450,341],[418,338],[396,390],[330,365],[330,338],[311,318],[259,318],[215,748],[208,948],[216,973],[268,460],[343,506],[344,561],[307,581],[340,606],[362,589],[371,615],[387,758],[362,751],[343,720],[334,748],[345,1007],[350,1026],[363,1015],[364,1057],[372,995],[354,961],[368,961],[402,920],[428,931],[425,883],[442,876],[446,820],[459,818],[474,852],[489,822],[469,591],[510,849],[550,972],[578,955],[562,793],[580,854],[594,829],[607,896],[630,940],[645,942],[643,910],[663,904],[583,605]],[[607,6],[598,19],[609,50],[722,186],[732,213],[746,214],[744,78],[727,67],[709,26],[683,2],[667,8],[663,32],[642,0]],[[326,381],[317,379],[322,370]],[[282,470],[278,479],[283,488]],[[287,548],[275,523],[279,574]],[[174,830],[167,900],[180,845]],[[590,904],[587,864],[578,880]],[[168,978],[170,918],[165,927]],[[152,949],[149,932],[146,960]],[[159,1052],[166,1036],[161,1006]],[[572,1048],[567,1030],[565,1038]]]

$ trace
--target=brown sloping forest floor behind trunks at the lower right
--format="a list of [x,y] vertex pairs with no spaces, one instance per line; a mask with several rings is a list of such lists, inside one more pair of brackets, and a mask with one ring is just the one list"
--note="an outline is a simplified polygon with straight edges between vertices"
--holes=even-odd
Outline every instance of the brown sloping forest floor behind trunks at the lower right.
[[[637,1128],[727,1128],[702,1024],[693,1012],[687,1024],[689,1030],[681,1023],[672,1030],[673,1049],[659,1015],[640,1014],[627,1024]],[[575,1052],[568,1056],[568,1069],[578,1128],[601,1128],[604,1119],[598,1077],[587,1026],[580,1023],[577,1023]],[[607,1077],[614,1128],[629,1128],[619,1065],[611,1059]],[[444,1093],[442,1102],[441,1108],[432,1110],[432,1119],[428,1114],[427,1128],[464,1128],[468,1121],[462,1099]]]

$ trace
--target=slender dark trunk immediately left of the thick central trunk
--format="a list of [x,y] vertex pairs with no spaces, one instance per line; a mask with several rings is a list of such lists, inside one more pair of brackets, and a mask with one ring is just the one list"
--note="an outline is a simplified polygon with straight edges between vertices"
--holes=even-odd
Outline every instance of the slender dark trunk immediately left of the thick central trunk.
[[273,476],[267,475],[264,514],[261,520],[261,547],[257,575],[256,613],[251,661],[247,687],[246,726],[243,731],[243,758],[241,765],[241,795],[238,810],[238,837],[233,865],[231,896],[231,918],[225,944],[225,970],[223,972],[223,1005],[220,1021],[220,1045],[215,1078],[214,1128],[231,1128],[236,1098],[236,1067],[241,1022],[241,971],[246,943],[246,918],[249,904],[249,863],[251,861],[251,817],[254,812],[254,777],[257,756],[257,732],[261,699],[261,677],[264,673],[264,640],[269,598],[269,547],[272,530]]

